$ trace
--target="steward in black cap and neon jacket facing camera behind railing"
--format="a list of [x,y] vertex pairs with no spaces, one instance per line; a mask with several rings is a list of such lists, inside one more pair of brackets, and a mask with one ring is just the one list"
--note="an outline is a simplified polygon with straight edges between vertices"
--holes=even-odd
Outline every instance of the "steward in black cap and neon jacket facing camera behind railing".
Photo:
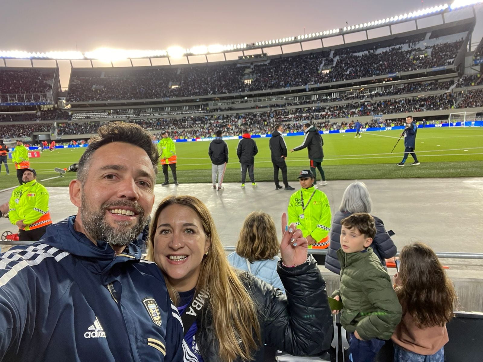
[[[298,179],[302,188],[290,196],[288,222],[297,223],[297,228],[309,242],[309,249],[326,249],[330,242],[332,218],[327,195],[314,188],[315,177],[311,170],[302,170]],[[319,265],[324,264],[325,255],[313,256]]]

